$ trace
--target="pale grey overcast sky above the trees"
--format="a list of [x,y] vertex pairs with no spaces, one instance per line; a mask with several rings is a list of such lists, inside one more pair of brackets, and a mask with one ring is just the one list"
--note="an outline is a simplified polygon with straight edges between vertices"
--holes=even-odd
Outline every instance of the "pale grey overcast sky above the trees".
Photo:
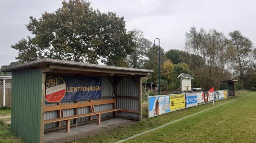
[[[0,0],[0,66],[15,62],[18,51],[10,46],[31,34],[29,16],[54,12],[62,0]],[[255,0],[90,0],[93,8],[123,16],[127,30],[144,31],[151,42],[160,38],[161,47],[182,50],[191,26],[215,28],[226,36],[240,30],[256,43]],[[158,43],[158,42],[157,42]]]

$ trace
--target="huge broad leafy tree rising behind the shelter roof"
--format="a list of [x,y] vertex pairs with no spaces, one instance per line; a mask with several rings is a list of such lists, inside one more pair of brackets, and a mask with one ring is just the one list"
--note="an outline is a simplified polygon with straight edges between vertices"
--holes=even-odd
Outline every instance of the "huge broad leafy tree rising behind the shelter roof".
[[30,17],[27,29],[33,38],[22,39],[12,48],[19,50],[20,62],[41,57],[76,62],[126,66],[133,51],[131,34],[123,17],[101,13],[84,0],[63,1],[53,13],[44,12],[38,20]]

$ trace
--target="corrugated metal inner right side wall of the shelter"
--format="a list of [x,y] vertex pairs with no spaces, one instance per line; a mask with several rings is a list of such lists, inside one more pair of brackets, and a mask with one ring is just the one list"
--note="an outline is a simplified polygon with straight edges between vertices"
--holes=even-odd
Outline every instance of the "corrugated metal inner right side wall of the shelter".
[[[125,77],[118,83],[116,94],[122,96],[140,97],[139,89],[130,77]],[[139,110],[139,100],[117,98],[116,108],[122,108],[127,110]],[[124,117],[139,118],[138,113],[119,112],[118,115]]]

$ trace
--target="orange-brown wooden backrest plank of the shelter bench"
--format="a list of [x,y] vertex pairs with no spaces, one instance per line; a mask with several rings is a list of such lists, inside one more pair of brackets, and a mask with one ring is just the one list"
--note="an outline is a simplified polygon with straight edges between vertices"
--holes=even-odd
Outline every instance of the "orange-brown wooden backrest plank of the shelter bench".
[[116,103],[116,99],[102,100],[102,101],[89,101],[89,102],[73,103],[73,104],[61,104],[61,105],[45,106],[44,107],[44,112],[47,112],[47,111],[57,111],[57,110],[63,110],[63,109],[73,109],[73,108],[80,108],[80,107],[89,107],[89,106],[111,104],[111,103]]

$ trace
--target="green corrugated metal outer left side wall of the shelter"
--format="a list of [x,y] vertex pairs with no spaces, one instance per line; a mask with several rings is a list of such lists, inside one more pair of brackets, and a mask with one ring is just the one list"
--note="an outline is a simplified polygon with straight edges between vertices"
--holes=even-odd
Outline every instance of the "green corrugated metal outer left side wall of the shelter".
[[41,69],[12,72],[11,130],[27,143],[40,142]]

